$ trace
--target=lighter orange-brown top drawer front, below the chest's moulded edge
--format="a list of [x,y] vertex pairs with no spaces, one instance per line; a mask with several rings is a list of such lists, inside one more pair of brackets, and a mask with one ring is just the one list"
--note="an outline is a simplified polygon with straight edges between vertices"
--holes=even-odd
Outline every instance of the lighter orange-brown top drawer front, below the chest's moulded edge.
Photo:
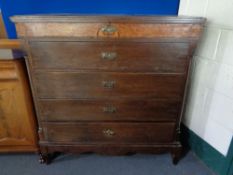
[[[198,38],[202,25],[200,24],[172,24],[160,22],[46,22],[16,24],[20,37],[77,37],[85,39],[97,38]],[[110,24],[111,23],[111,24]]]

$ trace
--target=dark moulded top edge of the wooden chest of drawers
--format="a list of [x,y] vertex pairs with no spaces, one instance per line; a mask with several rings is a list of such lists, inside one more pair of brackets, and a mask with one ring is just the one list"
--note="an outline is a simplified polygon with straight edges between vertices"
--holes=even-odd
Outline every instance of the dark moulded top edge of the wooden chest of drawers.
[[122,22],[122,23],[199,23],[206,19],[192,16],[139,16],[139,15],[16,15],[11,20],[15,23],[33,22]]

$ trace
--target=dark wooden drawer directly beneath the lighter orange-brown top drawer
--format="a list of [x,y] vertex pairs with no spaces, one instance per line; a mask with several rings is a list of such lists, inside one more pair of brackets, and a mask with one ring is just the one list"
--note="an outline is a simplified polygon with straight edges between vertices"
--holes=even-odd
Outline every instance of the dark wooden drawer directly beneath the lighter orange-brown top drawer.
[[31,42],[38,69],[92,69],[183,73],[188,43]]

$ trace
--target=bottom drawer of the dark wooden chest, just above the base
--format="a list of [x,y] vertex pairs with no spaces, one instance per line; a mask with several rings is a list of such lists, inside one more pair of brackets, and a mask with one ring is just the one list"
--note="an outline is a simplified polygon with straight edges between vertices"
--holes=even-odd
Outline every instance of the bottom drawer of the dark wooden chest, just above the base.
[[174,138],[175,123],[44,123],[53,143],[161,143]]

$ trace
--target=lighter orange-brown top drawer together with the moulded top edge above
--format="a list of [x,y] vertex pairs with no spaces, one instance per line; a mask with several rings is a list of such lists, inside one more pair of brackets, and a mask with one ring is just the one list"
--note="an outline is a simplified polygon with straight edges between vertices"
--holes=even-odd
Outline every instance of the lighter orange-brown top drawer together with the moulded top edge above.
[[198,39],[204,18],[184,16],[14,16],[19,37],[193,38]]

